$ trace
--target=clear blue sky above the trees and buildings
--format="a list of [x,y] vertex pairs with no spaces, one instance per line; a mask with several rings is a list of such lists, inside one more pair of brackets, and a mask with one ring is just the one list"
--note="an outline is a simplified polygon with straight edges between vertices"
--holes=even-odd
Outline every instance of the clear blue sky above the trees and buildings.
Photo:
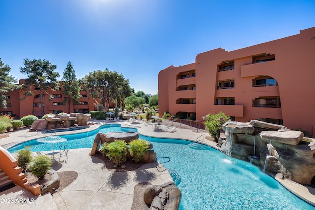
[[117,71],[135,91],[158,93],[158,72],[315,27],[315,0],[0,0],[0,58],[16,79],[23,59],[77,77]]

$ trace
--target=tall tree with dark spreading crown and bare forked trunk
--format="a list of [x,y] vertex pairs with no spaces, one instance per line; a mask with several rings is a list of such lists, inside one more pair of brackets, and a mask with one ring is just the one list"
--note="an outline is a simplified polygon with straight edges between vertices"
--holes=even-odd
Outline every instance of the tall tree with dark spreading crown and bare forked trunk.
[[[20,67],[20,72],[28,76],[23,85],[23,89],[28,91],[24,93],[23,99],[34,94],[29,90],[31,86],[38,88],[40,92],[41,115],[43,116],[45,115],[43,94],[48,88],[51,88],[51,90],[57,90],[59,88],[57,81],[59,73],[55,72],[56,65],[52,65],[45,59],[24,59],[24,65],[24,67]],[[46,93],[49,95],[48,92]],[[54,99],[52,95],[49,96],[49,100]]]

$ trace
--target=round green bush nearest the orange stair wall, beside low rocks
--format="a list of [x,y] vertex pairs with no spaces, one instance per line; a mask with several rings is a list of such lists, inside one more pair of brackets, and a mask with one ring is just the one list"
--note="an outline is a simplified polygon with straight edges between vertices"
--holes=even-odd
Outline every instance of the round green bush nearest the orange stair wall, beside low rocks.
[[46,155],[39,155],[30,163],[29,169],[39,180],[44,179],[45,174],[51,168],[51,159]]

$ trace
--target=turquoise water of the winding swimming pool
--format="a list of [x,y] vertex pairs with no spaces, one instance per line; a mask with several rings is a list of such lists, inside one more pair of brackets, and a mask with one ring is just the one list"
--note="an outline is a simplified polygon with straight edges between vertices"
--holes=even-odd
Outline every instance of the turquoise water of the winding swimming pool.
[[[104,125],[83,134],[64,135],[68,148],[91,148],[97,132],[135,131],[120,125]],[[140,136],[152,142],[157,156],[170,157],[163,165],[182,192],[181,210],[315,210],[287,191],[257,167],[201,144],[176,139]],[[51,150],[36,141],[32,151]],[[64,145],[64,143],[63,143]],[[55,144],[54,144],[55,146]],[[17,148],[19,147],[19,148]],[[56,149],[58,144],[56,144]],[[15,146],[16,152],[23,146]],[[161,158],[160,162],[164,162]]]

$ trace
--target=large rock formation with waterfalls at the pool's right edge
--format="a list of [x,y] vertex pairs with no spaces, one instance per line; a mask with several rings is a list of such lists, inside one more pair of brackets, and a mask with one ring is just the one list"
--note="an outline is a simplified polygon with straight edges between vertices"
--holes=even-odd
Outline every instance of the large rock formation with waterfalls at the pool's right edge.
[[315,139],[306,139],[300,131],[282,125],[252,120],[226,122],[226,139],[219,139],[219,150],[231,157],[251,162],[265,173],[315,184]]

